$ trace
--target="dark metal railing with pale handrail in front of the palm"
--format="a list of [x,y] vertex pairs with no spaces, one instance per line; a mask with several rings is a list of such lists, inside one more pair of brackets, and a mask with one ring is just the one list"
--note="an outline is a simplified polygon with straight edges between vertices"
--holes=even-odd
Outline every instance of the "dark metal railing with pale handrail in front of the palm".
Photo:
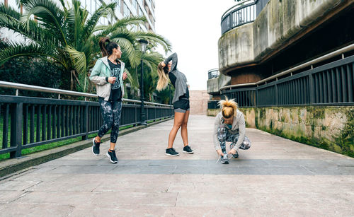
[[[69,90],[28,86],[0,81],[0,87],[97,98],[97,95]],[[18,91],[16,91],[18,93]],[[123,99],[120,127],[141,122],[141,102]],[[144,102],[147,121],[173,116],[173,107]],[[87,139],[103,123],[98,102],[0,95],[0,154],[18,158],[25,148],[82,136]]]

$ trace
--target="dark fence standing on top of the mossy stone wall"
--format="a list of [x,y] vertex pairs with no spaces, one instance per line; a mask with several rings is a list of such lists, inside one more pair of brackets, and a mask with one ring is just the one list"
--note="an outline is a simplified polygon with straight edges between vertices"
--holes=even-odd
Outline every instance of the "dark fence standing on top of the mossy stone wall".
[[222,90],[240,107],[354,105],[354,56],[254,88]]

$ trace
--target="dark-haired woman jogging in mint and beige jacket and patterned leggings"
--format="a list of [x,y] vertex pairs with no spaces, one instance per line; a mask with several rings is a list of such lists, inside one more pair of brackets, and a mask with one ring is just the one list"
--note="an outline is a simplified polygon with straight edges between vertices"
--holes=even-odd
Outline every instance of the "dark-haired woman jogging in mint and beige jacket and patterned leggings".
[[102,136],[109,129],[112,129],[110,132],[110,149],[106,156],[111,163],[118,163],[117,156],[115,156],[115,143],[118,137],[120,113],[122,111],[123,80],[127,78],[127,74],[124,72],[124,62],[119,60],[122,56],[120,46],[115,42],[110,42],[108,37],[103,37],[99,45],[102,58],[96,61],[90,80],[96,83],[103,125],[99,129],[98,135],[93,138],[92,153],[98,156]]

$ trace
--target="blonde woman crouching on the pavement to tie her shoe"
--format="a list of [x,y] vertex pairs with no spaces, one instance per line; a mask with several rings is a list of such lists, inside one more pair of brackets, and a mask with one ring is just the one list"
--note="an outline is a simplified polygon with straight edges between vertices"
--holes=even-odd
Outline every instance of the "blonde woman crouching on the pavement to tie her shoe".
[[[217,114],[214,123],[214,145],[217,154],[221,156],[221,163],[229,163],[227,154],[238,158],[238,149],[247,150],[251,147],[251,141],[246,136],[246,124],[244,114],[238,110],[237,103],[232,100],[220,100],[221,112]],[[226,142],[230,144],[230,151],[226,151]]]

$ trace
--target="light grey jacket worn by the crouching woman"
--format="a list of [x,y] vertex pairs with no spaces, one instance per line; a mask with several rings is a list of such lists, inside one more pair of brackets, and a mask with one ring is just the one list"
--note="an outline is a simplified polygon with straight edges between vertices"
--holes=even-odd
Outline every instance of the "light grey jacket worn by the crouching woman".
[[[240,110],[236,110],[236,117],[234,116],[234,120],[232,121],[232,129],[229,129],[231,134],[239,134],[239,140],[237,140],[236,145],[234,146],[234,150],[237,151],[237,148],[241,146],[241,143],[244,142],[244,137],[246,136],[246,124],[244,121],[244,114]],[[217,129],[220,124],[224,124],[224,117],[222,117],[222,112],[217,114],[214,122],[214,132],[213,132],[213,141],[215,150],[220,149],[219,139],[217,139]]]

